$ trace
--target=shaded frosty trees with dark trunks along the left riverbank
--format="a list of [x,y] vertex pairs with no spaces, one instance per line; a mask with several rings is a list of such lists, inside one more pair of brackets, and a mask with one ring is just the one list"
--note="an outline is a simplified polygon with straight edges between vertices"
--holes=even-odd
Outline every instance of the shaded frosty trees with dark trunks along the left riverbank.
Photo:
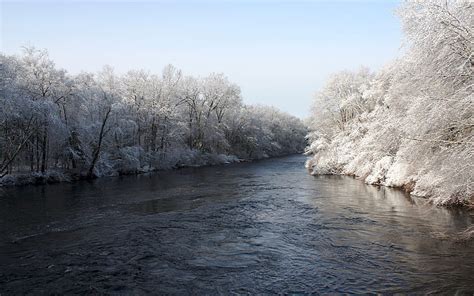
[[223,74],[70,75],[46,50],[0,55],[0,184],[57,182],[302,152],[302,121],[242,102]]

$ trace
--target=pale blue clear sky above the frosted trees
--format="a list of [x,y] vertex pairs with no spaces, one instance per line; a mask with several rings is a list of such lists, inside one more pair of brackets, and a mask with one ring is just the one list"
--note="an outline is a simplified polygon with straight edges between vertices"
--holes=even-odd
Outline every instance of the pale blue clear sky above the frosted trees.
[[5,54],[47,49],[72,74],[224,73],[245,103],[301,118],[332,73],[377,70],[401,51],[395,1],[0,2]]

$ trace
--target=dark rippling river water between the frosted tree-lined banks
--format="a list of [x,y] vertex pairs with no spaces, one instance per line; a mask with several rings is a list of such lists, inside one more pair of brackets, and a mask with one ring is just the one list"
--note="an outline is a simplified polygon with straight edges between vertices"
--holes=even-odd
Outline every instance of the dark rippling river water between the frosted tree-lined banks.
[[0,294],[474,293],[472,213],[304,160],[5,189]]

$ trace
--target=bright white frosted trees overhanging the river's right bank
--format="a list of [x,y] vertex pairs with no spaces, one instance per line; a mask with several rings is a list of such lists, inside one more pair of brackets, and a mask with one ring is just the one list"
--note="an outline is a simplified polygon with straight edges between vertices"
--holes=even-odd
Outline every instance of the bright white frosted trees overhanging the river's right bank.
[[399,58],[336,73],[315,95],[306,165],[438,205],[472,203],[474,3],[410,1],[397,14]]

